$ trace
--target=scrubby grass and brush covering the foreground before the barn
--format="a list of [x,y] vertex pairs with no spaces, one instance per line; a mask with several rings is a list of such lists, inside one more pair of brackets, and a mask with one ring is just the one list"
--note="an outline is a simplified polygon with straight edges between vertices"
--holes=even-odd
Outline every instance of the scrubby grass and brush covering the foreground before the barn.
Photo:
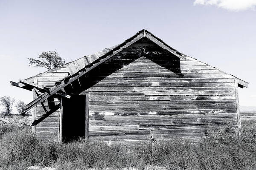
[[255,123],[243,121],[241,136],[227,125],[199,143],[143,143],[130,152],[103,142],[42,144],[27,127],[5,125],[0,127],[0,169],[38,165],[55,170],[255,170]]

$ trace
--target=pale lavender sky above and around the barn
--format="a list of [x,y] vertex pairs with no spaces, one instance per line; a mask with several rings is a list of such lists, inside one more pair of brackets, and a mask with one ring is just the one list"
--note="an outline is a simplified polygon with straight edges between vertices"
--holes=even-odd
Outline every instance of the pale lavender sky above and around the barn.
[[0,96],[28,103],[11,86],[45,68],[29,58],[56,50],[66,62],[147,29],[171,47],[249,82],[242,106],[256,106],[256,0],[0,0]]

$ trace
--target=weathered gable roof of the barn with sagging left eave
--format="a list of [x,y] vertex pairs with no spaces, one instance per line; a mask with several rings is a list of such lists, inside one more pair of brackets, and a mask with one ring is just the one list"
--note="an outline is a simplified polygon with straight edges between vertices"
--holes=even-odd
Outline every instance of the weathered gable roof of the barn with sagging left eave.
[[[44,73],[38,74],[34,77],[29,77],[25,80],[21,80],[20,82],[11,82],[11,85],[24,88],[27,90],[32,90],[33,88],[38,88],[42,91],[45,91],[43,94],[38,96],[38,98],[34,99],[32,102],[30,102],[28,105],[25,106],[25,109],[32,108],[39,102],[44,101],[48,97],[52,96],[53,94],[60,91],[65,86],[69,85],[74,80],[78,79],[79,77],[86,74],[88,71],[92,70],[93,68],[100,65],[102,62],[106,61],[107,59],[111,58],[113,55],[119,53],[122,51],[122,49],[128,47],[129,45],[137,42],[138,40],[142,39],[143,37],[148,38],[155,44],[159,45],[161,48],[166,49],[167,51],[171,52],[175,56],[182,58],[182,59],[189,59],[191,61],[198,61],[195,58],[189,57],[185,54],[180,53],[179,51],[175,50],[174,48],[167,45],[165,42],[160,40],[159,38],[155,37],[153,34],[151,34],[149,31],[143,29],[139,32],[137,32],[134,36],[128,38],[124,42],[115,45],[110,48],[105,48],[102,51],[98,51],[94,54],[90,54],[88,56],[84,56],[82,58],[79,58],[73,62],[69,62],[65,65],[62,65],[61,67],[54,68],[52,70],[46,71]],[[206,64],[206,63],[204,63]],[[206,64],[207,65],[207,64]],[[211,66],[212,67],[212,66]],[[40,77],[43,74],[49,74],[55,71],[60,71],[62,76],[58,77],[57,81],[55,82],[55,86],[52,88],[46,88],[44,86],[36,85],[34,83],[34,79],[36,77]],[[223,71],[221,71],[223,74],[227,74]],[[230,75],[230,74],[229,74]],[[239,87],[248,87],[248,82],[245,82],[244,80],[241,80],[233,75],[230,75],[233,78],[237,79]]]

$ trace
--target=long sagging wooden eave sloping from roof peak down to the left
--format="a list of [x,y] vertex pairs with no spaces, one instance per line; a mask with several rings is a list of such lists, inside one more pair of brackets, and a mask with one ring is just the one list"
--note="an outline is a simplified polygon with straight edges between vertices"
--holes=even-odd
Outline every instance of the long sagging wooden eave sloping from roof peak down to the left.
[[119,49],[117,49],[116,51],[113,51],[113,53],[111,54],[106,54],[106,57],[104,59],[99,60],[99,62],[95,63],[94,65],[92,65],[90,68],[87,68],[85,71],[80,71],[79,74],[74,74],[74,77],[68,77],[69,79],[67,79],[67,81],[61,81],[61,83],[58,86],[55,86],[53,88],[51,88],[49,90],[48,93],[44,93],[41,96],[38,96],[38,98],[36,98],[35,100],[33,100],[32,102],[30,102],[29,104],[27,104],[24,108],[26,110],[34,107],[35,105],[37,105],[39,102],[47,99],[48,97],[52,96],[53,94],[57,93],[58,91],[61,90],[61,88],[66,87],[67,85],[69,85],[71,82],[75,81],[76,79],[78,79],[79,77],[83,76],[84,74],[86,74],[88,71],[92,70],[93,68],[95,68],[96,66],[98,66],[99,64],[101,64],[102,62],[106,61],[107,59],[111,58],[113,55],[116,55],[117,53],[119,53],[120,51],[122,51],[123,48],[128,47],[129,45],[133,44],[134,42],[137,42],[138,40],[140,40],[141,38],[143,38],[143,33],[138,34],[136,37],[134,37],[132,40],[130,40],[129,42],[127,42],[125,45],[122,45],[122,47],[120,47]]

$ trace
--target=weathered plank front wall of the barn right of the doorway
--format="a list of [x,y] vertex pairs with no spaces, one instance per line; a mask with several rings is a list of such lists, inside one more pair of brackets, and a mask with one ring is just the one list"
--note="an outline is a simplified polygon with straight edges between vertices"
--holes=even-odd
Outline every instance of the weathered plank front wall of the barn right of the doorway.
[[[134,52],[145,47],[148,54]],[[207,127],[236,124],[232,78],[152,44],[135,44],[84,80],[90,84],[81,92],[89,91],[89,140],[198,139]]]

